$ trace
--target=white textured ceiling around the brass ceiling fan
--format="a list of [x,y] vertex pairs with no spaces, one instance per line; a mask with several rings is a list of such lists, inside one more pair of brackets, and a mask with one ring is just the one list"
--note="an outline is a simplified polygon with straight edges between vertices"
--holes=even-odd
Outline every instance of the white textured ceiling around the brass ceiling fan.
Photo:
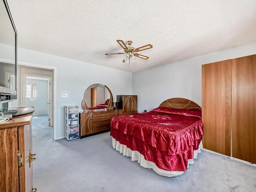
[[[19,47],[133,72],[256,40],[255,0],[8,2]],[[123,65],[116,39],[154,48]]]

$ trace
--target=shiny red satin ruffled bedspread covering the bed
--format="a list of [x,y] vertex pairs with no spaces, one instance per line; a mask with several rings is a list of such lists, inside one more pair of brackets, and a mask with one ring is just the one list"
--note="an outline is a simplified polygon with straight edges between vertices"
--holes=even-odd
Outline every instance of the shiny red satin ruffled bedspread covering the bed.
[[184,171],[202,140],[203,123],[200,111],[157,108],[114,117],[110,134],[159,168]]

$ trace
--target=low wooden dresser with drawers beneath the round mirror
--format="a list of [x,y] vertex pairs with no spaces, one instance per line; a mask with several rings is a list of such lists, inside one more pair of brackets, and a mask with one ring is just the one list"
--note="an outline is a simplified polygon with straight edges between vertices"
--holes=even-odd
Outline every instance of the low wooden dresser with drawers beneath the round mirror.
[[91,110],[79,113],[80,138],[110,130],[113,117],[122,115],[122,110]]

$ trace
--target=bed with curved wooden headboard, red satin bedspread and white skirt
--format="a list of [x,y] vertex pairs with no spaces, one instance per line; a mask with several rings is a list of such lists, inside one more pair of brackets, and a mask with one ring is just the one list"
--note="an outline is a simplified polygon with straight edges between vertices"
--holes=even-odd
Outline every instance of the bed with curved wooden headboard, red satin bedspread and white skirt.
[[171,98],[142,114],[111,121],[112,145],[157,174],[174,177],[193,164],[202,149],[201,107],[185,98]]

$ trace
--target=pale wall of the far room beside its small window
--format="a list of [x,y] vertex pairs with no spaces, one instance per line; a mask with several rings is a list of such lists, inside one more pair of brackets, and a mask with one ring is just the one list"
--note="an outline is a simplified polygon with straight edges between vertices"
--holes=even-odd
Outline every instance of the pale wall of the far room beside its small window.
[[35,112],[33,115],[48,114],[48,80],[27,79],[27,84],[34,84],[35,98],[26,98],[26,106],[34,106]]

